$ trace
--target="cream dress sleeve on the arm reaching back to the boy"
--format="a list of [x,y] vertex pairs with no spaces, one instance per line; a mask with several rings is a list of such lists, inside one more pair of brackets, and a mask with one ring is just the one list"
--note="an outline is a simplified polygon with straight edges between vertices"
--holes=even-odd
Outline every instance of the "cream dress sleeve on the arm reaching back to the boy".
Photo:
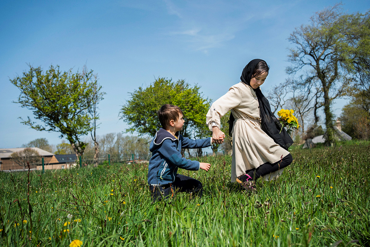
[[206,124],[209,130],[212,130],[212,125],[216,125],[221,129],[221,117],[225,116],[229,110],[240,105],[242,94],[239,87],[231,87],[229,91],[216,100],[206,115]]

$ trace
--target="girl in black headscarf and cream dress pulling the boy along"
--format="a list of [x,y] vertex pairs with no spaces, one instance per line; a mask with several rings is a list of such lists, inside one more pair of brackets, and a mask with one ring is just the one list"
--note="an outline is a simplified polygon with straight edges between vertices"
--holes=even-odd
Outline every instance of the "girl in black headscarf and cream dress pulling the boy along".
[[238,181],[244,188],[253,189],[252,181],[270,173],[279,173],[293,160],[287,151],[293,140],[284,128],[279,133],[282,126],[260,90],[268,73],[269,66],[265,61],[250,61],[243,69],[241,81],[216,100],[206,115],[213,140],[221,144],[223,140],[220,137],[225,137],[225,133],[220,130],[220,118],[231,110],[231,181]]

